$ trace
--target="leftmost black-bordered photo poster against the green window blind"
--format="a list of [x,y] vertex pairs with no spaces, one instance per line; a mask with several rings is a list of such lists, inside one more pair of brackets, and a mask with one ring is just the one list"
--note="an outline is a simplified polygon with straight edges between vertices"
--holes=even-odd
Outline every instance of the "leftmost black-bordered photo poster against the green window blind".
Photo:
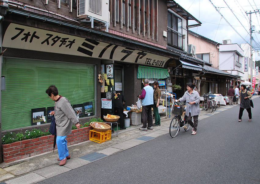
[[31,125],[41,125],[46,123],[45,107],[31,110]]

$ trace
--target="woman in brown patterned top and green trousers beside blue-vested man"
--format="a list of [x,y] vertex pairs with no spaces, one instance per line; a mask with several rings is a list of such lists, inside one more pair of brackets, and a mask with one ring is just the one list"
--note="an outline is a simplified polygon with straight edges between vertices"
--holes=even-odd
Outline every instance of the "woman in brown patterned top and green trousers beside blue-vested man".
[[160,118],[160,114],[158,112],[158,106],[159,106],[159,101],[161,98],[161,90],[159,88],[159,83],[157,81],[155,81],[153,83],[154,85],[154,105],[153,105],[153,109],[154,109],[154,117],[155,117],[155,123],[153,124],[153,126],[160,126],[161,125],[161,118]]

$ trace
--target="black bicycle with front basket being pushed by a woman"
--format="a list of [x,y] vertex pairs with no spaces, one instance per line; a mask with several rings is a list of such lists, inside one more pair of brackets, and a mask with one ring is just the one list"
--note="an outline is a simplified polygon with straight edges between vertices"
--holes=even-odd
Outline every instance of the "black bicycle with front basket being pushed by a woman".
[[[187,104],[189,102],[186,102],[185,104]],[[185,131],[188,131],[188,129],[190,128],[190,124],[188,123],[187,120],[187,116],[184,115],[184,119],[182,121],[181,119],[181,115],[183,114],[184,110],[186,109],[186,107],[184,107],[184,105],[182,105],[180,102],[174,102],[174,106],[173,106],[173,111],[172,113],[175,114],[175,116],[173,117],[171,124],[170,124],[170,136],[171,137],[176,137],[178,132],[180,131],[180,128],[184,128]]]

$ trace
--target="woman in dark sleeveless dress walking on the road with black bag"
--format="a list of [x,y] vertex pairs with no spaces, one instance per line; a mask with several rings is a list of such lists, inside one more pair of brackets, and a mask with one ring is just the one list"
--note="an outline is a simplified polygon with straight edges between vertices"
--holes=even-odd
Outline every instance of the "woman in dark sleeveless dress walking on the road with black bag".
[[238,115],[238,121],[242,121],[242,115],[244,109],[247,109],[248,112],[248,121],[252,121],[252,113],[251,113],[251,103],[250,99],[252,95],[249,91],[246,90],[246,86],[244,84],[241,85],[241,92],[240,92],[240,109]]

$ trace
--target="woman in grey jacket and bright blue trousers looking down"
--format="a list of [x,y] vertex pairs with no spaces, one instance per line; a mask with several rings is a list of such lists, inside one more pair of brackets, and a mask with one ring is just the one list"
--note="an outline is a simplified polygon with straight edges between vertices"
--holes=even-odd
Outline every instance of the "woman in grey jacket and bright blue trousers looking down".
[[59,165],[63,166],[67,159],[70,159],[69,150],[67,148],[67,135],[71,133],[72,125],[75,124],[77,128],[80,128],[79,120],[76,117],[74,110],[72,109],[70,102],[67,98],[58,95],[58,89],[56,86],[51,85],[46,93],[49,97],[55,101],[54,111],[50,112],[54,115],[56,121],[57,130],[57,148],[60,161]]

